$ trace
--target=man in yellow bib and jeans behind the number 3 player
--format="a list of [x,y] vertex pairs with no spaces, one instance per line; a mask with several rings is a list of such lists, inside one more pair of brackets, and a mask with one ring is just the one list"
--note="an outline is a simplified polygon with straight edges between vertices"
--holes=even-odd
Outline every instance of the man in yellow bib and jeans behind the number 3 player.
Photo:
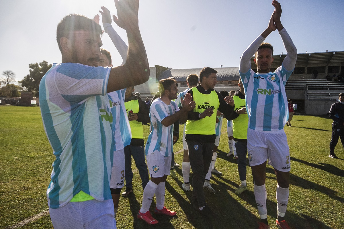
[[122,196],[128,196],[132,193],[133,173],[131,170],[131,155],[135,161],[137,169],[139,170],[143,190],[149,181],[147,164],[144,160],[142,128],[142,124],[149,122],[149,108],[146,103],[141,100],[138,93],[132,93],[134,90],[134,87],[128,87],[124,99],[131,129],[131,142],[130,145],[124,148],[126,168],[124,178],[126,180],[126,191],[122,193]]

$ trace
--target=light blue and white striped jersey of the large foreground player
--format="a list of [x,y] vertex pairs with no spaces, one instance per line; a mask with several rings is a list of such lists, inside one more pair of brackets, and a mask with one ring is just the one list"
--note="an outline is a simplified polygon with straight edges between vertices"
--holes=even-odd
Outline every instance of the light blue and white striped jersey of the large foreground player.
[[53,64],[41,80],[43,126],[56,157],[47,190],[51,208],[64,206],[80,191],[98,201],[111,199],[110,69]]

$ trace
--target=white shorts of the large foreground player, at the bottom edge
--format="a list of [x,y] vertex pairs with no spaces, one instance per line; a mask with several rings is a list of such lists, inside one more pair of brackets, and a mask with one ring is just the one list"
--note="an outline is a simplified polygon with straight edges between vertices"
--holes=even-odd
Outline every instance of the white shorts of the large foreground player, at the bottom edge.
[[49,214],[55,229],[116,228],[112,199],[69,202],[60,208],[49,208]]

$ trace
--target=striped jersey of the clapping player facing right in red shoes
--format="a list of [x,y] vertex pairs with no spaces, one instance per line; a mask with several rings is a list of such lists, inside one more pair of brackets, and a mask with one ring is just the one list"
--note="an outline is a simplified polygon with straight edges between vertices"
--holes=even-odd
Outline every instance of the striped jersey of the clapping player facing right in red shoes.
[[151,133],[146,142],[146,155],[159,151],[164,157],[172,155],[173,125],[164,126],[161,121],[179,111],[177,104],[171,101],[170,105],[160,98],[155,99],[149,110]]

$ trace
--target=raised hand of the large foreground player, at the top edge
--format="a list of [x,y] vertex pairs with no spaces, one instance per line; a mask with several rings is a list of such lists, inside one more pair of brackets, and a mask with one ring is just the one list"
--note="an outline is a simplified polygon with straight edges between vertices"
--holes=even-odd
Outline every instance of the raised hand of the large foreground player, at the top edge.
[[115,0],[116,15],[112,15],[114,22],[125,30],[134,30],[139,26],[139,0]]

